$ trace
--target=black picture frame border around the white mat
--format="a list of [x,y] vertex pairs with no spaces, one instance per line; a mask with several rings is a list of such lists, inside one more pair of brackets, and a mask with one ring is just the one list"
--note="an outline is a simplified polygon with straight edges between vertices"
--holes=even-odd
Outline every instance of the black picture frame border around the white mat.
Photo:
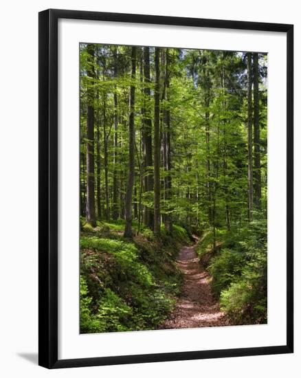
[[[58,359],[58,19],[116,21],[235,30],[287,36],[287,343],[214,351]],[[39,291],[38,364],[68,368],[293,353],[293,25],[144,14],[45,10],[39,13]]]

